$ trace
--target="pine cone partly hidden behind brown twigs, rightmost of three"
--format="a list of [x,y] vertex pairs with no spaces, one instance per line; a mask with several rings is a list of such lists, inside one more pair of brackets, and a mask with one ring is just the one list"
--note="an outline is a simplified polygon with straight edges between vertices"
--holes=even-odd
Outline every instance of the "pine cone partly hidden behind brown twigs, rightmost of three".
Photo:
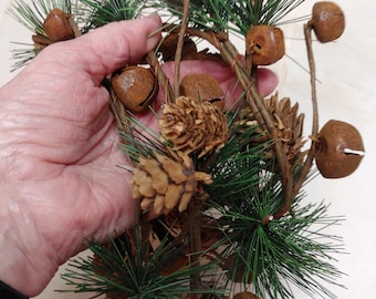
[[[271,115],[274,117],[274,138],[281,140],[283,143],[283,150],[288,156],[291,164],[301,161],[305,152],[301,152],[305,141],[303,141],[303,122],[304,114],[297,115],[299,104],[295,103],[291,106],[291,101],[289,97],[283,97],[278,100],[278,94],[265,99],[265,105]],[[242,126],[249,126],[257,124],[253,113],[246,112],[240,121]],[[259,132],[261,133],[261,132]],[[263,143],[267,141],[267,136],[260,136],[257,140],[258,143]],[[273,152],[268,153],[274,156]]]

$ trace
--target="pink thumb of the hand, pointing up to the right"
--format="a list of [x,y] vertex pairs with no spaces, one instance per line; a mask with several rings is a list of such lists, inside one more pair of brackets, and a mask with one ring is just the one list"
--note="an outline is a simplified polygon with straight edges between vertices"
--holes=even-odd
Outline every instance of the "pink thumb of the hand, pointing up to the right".
[[84,71],[100,85],[104,76],[153,50],[160,39],[157,33],[160,27],[157,14],[113,22],[74,40],[49,45],[34,59],[41,63],[34,65],[46,69],[69,65],[72,73]]

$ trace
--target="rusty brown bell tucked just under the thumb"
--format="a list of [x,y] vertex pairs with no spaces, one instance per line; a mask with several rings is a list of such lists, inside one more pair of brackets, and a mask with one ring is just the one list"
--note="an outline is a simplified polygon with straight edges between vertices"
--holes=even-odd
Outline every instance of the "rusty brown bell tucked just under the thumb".
[[112,85],[116,96],[133,113],[145,112],[159,90],[157,79],[150,69],[138,65],[127,66],[115,73]]

